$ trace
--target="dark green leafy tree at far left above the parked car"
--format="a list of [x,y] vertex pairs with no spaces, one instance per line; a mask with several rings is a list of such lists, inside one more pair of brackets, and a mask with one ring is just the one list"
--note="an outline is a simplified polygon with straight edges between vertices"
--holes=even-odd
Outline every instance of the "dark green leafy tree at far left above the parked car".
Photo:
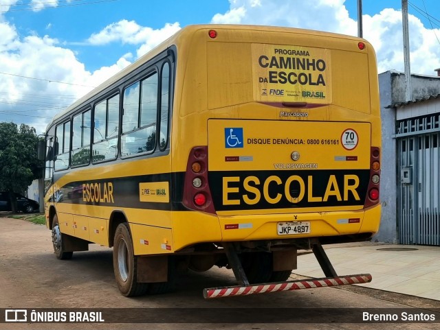
[[39,177],[37,141],[33,127],[0,123],[0,190],[22,193]]

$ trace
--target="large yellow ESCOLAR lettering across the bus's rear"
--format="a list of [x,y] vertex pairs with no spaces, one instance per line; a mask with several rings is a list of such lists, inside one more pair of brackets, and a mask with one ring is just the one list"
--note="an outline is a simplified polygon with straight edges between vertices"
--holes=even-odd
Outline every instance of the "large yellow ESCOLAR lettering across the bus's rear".
[[[239,176],[223,177],[223,205],[240,205],[242,202],[254,205],[262,199],[269,204],[277,204],[283,198],[294,204],[305,198],[307,202],[327,202],[329,198],[335,198],[338,202],[353,198],[360,201],[359,193],[356,190],[360,185],[360,179],[355,174],[345,174],[342,187],[338,184],[335,175],[329,176],[322,196],[317,196],[314,192],[313,176],[307,176],[305,180],[300,176],[293,175],[289,176],[285,182],[275,175],[265,178],[264,182],[256,176],[247,176],[243,179],[243,191],[240,191],[240,188],[236,186],[240,180]],[[296,193],[292,193],[291,190],[291,185],[294,184],[299,187],[296,189]],[[274,187],[278,189],[273,189]]]

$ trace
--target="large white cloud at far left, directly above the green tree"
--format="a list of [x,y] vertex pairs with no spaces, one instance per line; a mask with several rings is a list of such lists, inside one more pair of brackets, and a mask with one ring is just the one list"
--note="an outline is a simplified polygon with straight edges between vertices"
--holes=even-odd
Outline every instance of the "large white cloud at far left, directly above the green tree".
[[[5,28],[3,25],[0,23],[0,31]],[[127,58],[131,55],[125,54],[115,64],[90,72],[74,51],[60,47],[56,39],[26,36],[19,40],[14,29],[9,32],[8,47],[5,49],[0,43],[0,73],[7,73],[0,74],[0,120],[25,122],[37,132],[43,132],[56,113],[92,86],[130,64]]]

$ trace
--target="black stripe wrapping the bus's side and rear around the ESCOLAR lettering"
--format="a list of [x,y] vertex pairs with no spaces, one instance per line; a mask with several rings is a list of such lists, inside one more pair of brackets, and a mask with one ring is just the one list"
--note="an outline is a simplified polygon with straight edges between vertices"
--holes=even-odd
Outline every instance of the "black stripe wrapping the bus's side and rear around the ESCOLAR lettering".
[[[208,180],[216,211],[347,207],[364,204],[369,174],[369,169],[210,171]],[[189,211],[182,204],[184,178],[185,172],[175,172],[69,182],[54,194],[54,200],[115,208]],[[108,191],[106,198],[104,189],[109,182],[111,198]],[[141,182],[170,182],[169,202],[141,202]],[[87,201],[84,185],[97,185],[99,200]]]

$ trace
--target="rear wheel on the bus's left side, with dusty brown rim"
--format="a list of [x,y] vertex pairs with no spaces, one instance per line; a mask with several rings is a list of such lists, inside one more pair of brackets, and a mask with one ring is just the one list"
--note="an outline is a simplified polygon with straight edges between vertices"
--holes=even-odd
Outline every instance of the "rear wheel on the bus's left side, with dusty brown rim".
[[133,242],[126,223],[119,224],[116,228],[113,270],[118,288],[124,296],[141,296],[146,293],[148,283],[138,283],[136,279],[137,257],[133,253]]

